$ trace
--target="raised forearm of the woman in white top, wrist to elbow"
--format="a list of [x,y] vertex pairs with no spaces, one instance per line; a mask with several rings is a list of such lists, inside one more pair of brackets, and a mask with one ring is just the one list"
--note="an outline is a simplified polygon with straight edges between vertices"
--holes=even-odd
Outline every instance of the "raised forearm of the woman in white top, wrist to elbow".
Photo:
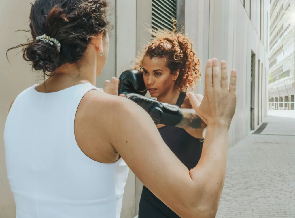
[[213,214],[217,212],[224,185],[227,149],[227,127],[208,126],[200,161],[190,171],[190,176],[196,184],[195,194],[198,194],[199,198],[197,207],[205,208],[205,211],[211,209]]

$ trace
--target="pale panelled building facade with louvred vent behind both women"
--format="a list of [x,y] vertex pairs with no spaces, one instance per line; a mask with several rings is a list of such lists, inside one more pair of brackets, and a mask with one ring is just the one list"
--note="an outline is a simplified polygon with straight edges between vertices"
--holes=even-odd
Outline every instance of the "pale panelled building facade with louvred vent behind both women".
[[[171,28],[171,16],[178,20],[178,30],[194,41],[195,50],[204,66],[209,58],[226,60],[228,74],[237,70],[237,108],[229,131],[230,146],[257,129],[268,111],[268,32],[270,6],[268,0],[110,0],[109,16],[114,28],[110,32],[110,51],[97,86],[119,76],[151,39],[146,28]],[[275,0],[273,0],[275,1]],[[281,0],[280,0],[281,1]],[[12,99],[36,83],[40,75],[32,72],[17,51],[5,51],[23,43],[28,34],[15,32],[28,29],[31,0],[0,2],[0,132],[4,130],[7,110]],[[17,6],[15,6],[17,5]],[[17,14],[17,16],[15,16]],[[220,67],[220,66],[219,66]],[[42,78],[41,78],[42,79]],[[204,94],[204,77],[194,92]],[[15,217],[15,206],[6,175],[4,146],[0,134],[0,217]],[[124,193],[122,218],[138,213],[142,184],[130,171]]]

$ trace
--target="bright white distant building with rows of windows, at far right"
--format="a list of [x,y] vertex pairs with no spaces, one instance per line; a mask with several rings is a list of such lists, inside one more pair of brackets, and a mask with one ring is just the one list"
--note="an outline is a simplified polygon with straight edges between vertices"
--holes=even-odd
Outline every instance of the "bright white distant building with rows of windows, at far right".
[[269,102],[271,109],[294,110],[295,1],[270,1]]

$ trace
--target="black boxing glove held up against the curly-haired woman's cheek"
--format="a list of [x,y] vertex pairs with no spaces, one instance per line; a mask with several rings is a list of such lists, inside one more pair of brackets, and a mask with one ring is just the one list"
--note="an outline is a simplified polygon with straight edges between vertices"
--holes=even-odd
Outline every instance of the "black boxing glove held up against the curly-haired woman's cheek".
[[143,81],[143,72],[126,70],[119,77],[118,94],[136,93],[145,96],[148,89]]

